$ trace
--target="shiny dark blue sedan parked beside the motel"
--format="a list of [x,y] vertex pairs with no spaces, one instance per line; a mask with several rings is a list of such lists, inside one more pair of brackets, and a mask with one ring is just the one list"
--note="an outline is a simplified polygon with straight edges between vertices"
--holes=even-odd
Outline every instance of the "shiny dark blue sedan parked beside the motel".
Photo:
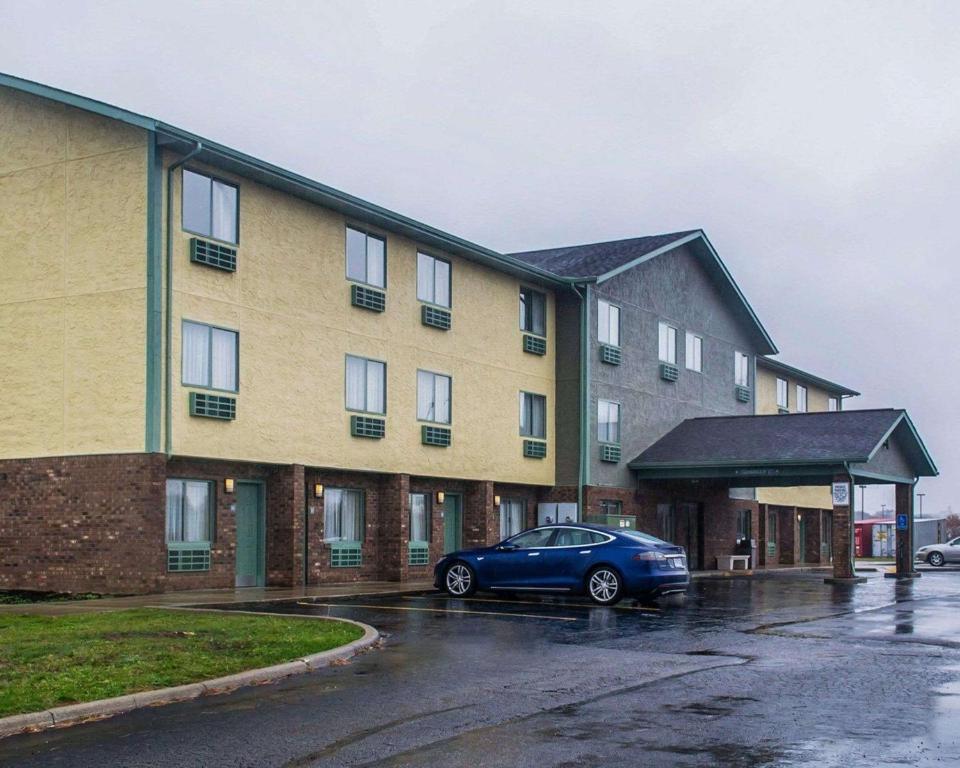
[[685,592],[683,547],[639,531],[572,523],[518,533],[492,547],[445,555],[434,586],[454,597],[478,589],[589,595],[600,605]]

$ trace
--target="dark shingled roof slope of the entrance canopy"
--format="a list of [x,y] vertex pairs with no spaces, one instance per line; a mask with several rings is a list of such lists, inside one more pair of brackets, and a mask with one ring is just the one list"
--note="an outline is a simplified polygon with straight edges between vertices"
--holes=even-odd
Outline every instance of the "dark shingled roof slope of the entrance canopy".
[[687,419],[630,466],[865,462],[905,415],[888,408]]

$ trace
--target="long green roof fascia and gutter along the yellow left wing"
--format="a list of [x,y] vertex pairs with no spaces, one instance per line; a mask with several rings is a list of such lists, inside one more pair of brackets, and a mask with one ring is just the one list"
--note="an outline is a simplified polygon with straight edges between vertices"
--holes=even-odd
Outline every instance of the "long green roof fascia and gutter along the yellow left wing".
[[129,110],[121,109],[111,104],[97,101],[96,99],[79,96],[60,88],[36,83],[32,80],[25,80],[13,75],[0,73],[0,86],[30,93],[34,96],[92,112],[102,117],[118,120],[147,131],[155,131],[167,139],[188,142],[189,148],[191,149],[196,146],[197,142],[200,142],[203,145],[203,152],[199,156],[201,160],[212,161],[212,164],[215,165],[223,165],[222,162],[216,162],[216,159],[219,158],[225,161],[228,166],[233,165],[234,169],[238,173],[241,173],[241,175],[249,176],[249,173],[243,173],[241,171],[241,169],[248,169],[256,173],[260,177],[260,181],[268,185],[290,191],[293,194],[298,194],[300,197],[313,200],[318,204],[333,208],[349,216],[354,216],[364,222],[381,226],[387,230],[400,232],[424,243],[424,245],[432,245],[442,250],[459,254],[500,272],[509,272],[516,276],[536,280],[551,286],[593,282],[591,278],[561,277],[547,270],[540,269],[539,267],[533,267],[526,262],[464,240],[456,235],[431,227],[415,219],[396,213],[395,211],[369,203],[358,197],[349,195],[346,192],[341,192],[333,187],[320,184],[305,176],[252,157],[239,150],[231,149],[223,144],[208,141],[182,128],[177,128],[176,126],[160,122],[145,115],[138,115],[135,112],[130,112]]

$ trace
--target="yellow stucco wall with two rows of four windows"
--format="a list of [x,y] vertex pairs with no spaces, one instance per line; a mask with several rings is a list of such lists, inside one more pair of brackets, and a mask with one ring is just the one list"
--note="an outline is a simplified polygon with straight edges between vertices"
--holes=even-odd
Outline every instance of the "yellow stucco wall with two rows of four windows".
[[[169,162],[171,158],[165,158]],[[202,167],[193,166],[198,170]],[[174,194],[173,449],[183,456],[303,463],[413,475],[554,482],[554,304],[548,353],[521,349],[520,282],[459,257],[452,263],[452,330],[421,324],[417,244],[390,233],[387,309],[350,305],[345,227],[339,214],[245,179],[240,186],[238,269],[191,264]],[[180,384],[183,318],[239,331],[240,384],[233,422],[191,417]],[[353,438],[344,402],[345,355],[387,363],[387,436]],[[418,369],[452,377],[449,448],[421,445]],[[547,396],[548,458],[525,459],[520,390]],[[199,391],[199,390],[196,390]]]

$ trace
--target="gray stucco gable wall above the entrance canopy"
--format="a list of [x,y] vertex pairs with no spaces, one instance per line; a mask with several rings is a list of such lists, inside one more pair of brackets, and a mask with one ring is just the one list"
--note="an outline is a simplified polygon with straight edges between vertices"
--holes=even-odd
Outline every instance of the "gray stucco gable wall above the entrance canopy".
[[[702,266],[682,246],[628,270],[592,291],[590,308],[590,481],[592,485],[632,487],[627,463],[684,419],[754,413],[754,363],[751,360],[751,401],[735,397],[734,352],[755,358],[751,329],[739,306],[731,306]],[[619,366],[599,361],[596,298],[620,307]],[[658,323],[677,328],[680,379],[660,378]],[[703,372],[685,367],[685,332],[703,337]],[[597,442],[597,400],[621,404],[619,464],[601,462]],[[561,412],[562,413],[562,412]],[[559,431],[558,431],[559,434]]]

